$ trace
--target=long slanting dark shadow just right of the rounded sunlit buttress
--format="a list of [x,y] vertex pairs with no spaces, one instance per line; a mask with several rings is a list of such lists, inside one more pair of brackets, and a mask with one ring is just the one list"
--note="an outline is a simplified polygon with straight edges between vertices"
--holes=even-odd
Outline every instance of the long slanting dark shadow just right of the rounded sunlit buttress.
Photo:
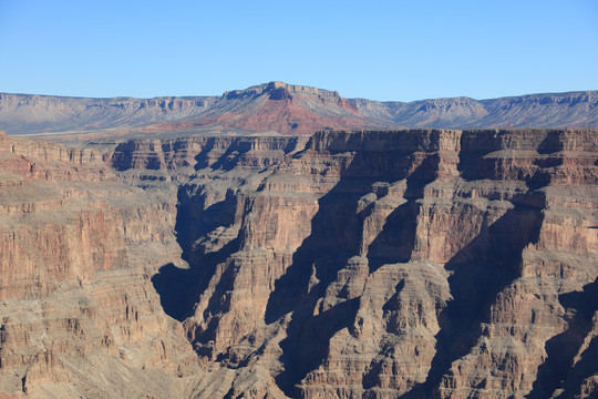
[[453,361],[476,345],[496,295],[520,276],[522,252],[537,241],[542,221],[542,208],[516,204],[445,265],[453,273],[453,299],[439,315],[441,329],[427,379],[405,398],[432,397]]

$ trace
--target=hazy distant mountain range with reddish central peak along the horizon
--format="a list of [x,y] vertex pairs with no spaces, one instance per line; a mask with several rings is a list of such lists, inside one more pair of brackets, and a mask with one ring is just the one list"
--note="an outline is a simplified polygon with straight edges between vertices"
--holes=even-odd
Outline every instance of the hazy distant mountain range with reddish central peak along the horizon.
[[598,91],[380,102],[270,82],[221,96],[87,99],[0,93],[9,134],[155,135],[230,132],[307,135],[328,129],[598,127]]

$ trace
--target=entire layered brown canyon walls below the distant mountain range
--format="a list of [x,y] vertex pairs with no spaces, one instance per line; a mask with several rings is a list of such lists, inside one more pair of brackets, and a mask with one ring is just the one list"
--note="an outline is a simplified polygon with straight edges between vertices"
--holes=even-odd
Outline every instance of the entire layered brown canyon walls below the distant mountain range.
[[0,164],[8,393],[598,392],[596,130],[2,136]]

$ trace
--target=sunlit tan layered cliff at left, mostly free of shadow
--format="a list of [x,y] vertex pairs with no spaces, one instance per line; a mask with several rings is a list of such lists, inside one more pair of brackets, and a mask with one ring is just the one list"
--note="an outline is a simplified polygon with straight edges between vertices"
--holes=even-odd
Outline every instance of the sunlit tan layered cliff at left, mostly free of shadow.
[[179,258],[176,191],[102,154],[0,135],[0,390],[181,397],[197,360],[151,283]]

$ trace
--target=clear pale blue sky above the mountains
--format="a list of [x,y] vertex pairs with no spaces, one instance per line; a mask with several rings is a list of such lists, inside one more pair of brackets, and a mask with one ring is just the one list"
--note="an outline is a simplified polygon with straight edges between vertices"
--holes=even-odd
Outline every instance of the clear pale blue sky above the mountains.
[[0,92],[412,101],[598,90],[597,0],[0,0]]

